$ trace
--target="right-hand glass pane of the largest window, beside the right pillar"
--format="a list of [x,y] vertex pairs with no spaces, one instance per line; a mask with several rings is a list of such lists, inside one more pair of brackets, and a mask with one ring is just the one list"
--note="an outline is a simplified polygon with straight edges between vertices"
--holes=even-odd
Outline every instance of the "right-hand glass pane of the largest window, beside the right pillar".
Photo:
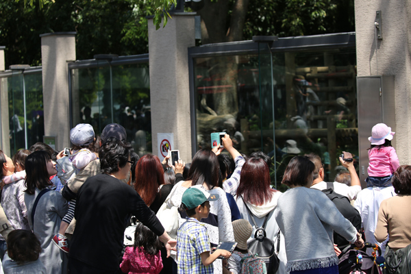
[[[358,158],[355,49],[286,52],[274,73],[277,180],[292,157],[316,153],[334,182],[342,151]],[[284,69],[280,69],[283,66]]]

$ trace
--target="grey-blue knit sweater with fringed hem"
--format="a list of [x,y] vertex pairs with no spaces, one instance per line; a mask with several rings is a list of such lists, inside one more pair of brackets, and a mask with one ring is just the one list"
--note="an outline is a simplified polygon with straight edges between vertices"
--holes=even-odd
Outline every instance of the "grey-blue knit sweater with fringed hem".
[[349,242],[356,240],[356,228],[316,189],[298,187],[284,192],[278,199],[275,220],[286,242],[287,271],[338,264],[333,230]]

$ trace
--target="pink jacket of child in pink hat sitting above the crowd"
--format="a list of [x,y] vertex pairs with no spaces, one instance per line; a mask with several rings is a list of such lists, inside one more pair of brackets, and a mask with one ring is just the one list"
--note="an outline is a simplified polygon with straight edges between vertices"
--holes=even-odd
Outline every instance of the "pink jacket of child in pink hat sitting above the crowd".
[[394,173],[399,167],[397,153],[393,147],[374,147],[369,150],[370,177],[385,177]]

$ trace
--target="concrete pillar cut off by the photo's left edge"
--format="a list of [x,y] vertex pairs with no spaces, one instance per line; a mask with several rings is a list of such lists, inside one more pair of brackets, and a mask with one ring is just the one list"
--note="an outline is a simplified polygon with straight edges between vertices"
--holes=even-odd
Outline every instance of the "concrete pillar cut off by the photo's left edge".
[[[0,47],[0,71],[5,71],[4,61],[5,47]],[[0,78],[0,145],[1,150],[10,156],[10,128],[9,128],[9,110],[8,110],[8,78]]]

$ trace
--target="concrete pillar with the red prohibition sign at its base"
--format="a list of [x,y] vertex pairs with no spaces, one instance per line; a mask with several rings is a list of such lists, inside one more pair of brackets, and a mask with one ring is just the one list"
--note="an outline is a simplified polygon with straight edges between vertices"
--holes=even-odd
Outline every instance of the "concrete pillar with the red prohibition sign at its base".
[[149,19],[151,140],[158,155],[157,134],[173,133],[180,158],[191,162],[188,47],[195,46],[195,13],[171,14],[166,27],[155,30]]

